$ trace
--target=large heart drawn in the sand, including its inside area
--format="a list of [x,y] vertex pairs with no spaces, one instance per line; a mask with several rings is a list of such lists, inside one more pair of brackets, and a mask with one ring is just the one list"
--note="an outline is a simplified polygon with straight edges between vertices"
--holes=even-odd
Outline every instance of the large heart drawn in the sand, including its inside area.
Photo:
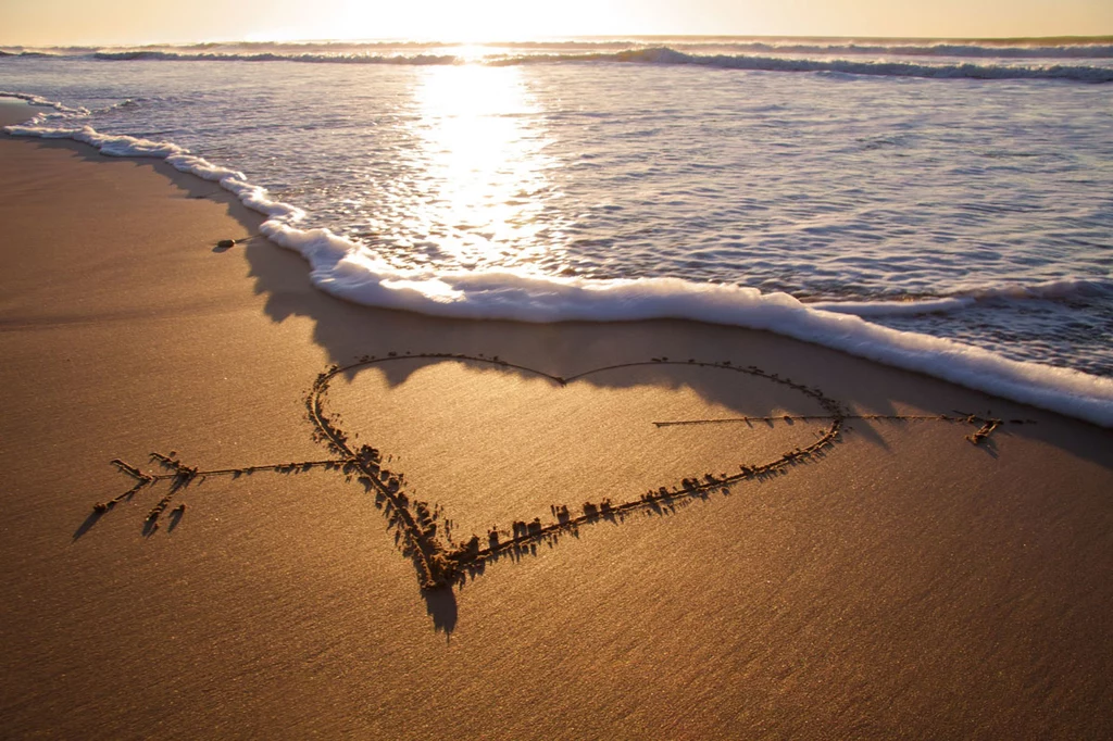
[[667,358],[562,378],[499,358],[365,357],[322,373],[306,406],[423,589],[592,522],[781,473],[833,445],[845,418],[818,389],[755,366]]

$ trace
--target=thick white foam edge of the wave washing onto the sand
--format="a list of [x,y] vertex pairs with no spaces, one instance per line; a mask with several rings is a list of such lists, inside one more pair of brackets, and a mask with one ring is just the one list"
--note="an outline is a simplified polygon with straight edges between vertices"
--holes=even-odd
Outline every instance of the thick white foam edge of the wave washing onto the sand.
[[782,293],[695,284],[680,278],[589,280],[512,271],[397,269],[328,229],[298,229],[301,209],[270,200],[238,171],[186,149],[90,127],[9,126],[13,136],[70,138],[118,157],[160,157],[175,168],[218,181],[265,216],[260,233],[299,253],[315,286],[370,306],[433,316],[510,319],[634,322],[691,319],[765,329],[885,365],[924,373],[979,392],[1113,427],[1113,379],[1070,368],[1012,360],[949,339],[889,329],[859,316],[809,307]]

